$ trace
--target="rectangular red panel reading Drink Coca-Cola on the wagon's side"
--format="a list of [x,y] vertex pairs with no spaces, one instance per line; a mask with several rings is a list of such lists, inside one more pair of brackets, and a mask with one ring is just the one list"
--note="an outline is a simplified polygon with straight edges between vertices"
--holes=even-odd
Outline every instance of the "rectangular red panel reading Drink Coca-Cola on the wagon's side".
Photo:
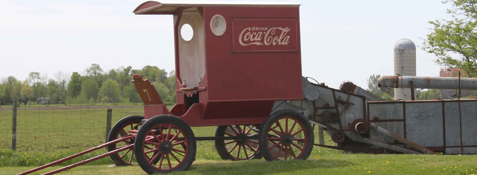
[[232,18],[233,51],[298,51],[295,18]]

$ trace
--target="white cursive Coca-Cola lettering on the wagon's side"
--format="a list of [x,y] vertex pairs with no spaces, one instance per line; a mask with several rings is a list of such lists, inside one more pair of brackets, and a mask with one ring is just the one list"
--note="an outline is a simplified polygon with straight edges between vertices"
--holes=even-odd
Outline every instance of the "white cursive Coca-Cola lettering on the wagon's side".
[[247,27],[239,35],[241,45],[288,45],[290,27]]

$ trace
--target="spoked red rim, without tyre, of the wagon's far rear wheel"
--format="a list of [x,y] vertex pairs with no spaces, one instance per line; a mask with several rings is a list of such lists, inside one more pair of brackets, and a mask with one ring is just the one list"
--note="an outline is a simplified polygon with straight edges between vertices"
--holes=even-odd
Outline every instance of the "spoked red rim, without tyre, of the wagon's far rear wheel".
[[[229,131],[230,130],[230,131]],[[237,135],[245,135],[245,136],[250,136],[252,135],[250,132],[252,131],[251,128],[248,128],[247,125],[235,125],[233,127],[232,125],[228,125],[226,129],[224,130],[223,134],[224,136],[237,136]],[[258,134],[258,133],[256,133]],[[255,155],[257,155],[260,147],[259,147],[259,142],[258,140],[253,140],[253,139],[246,139],[246,140],[222,140],[222,143],[227,150],[227,153],[234,159],[236,160],[248,160]],[[232,145],[231,147],[228,147],[228,145]],[[250,151],[247,151],[250,150]],[[236,152],[235,152],[236,151]],[[249,153],[250,152],[250,153]],[[241,158],[241,153],[242,155],[245,155],[245,158]]]

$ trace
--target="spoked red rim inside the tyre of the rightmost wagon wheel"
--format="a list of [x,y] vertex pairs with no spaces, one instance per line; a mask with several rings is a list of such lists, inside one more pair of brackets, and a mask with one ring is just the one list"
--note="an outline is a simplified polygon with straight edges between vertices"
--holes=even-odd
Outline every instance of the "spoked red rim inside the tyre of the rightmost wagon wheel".
[[[308,144],[305,126],[298,118],[291,116],[283,116],[276,119],[268,127],[266,134],[267,149],[277,160],[296,159],[300,157],[305,152],[305,148]],[[291,141],[289,140],[290,135],[292,138]],[[302,137],[296,137],[297,135]]]

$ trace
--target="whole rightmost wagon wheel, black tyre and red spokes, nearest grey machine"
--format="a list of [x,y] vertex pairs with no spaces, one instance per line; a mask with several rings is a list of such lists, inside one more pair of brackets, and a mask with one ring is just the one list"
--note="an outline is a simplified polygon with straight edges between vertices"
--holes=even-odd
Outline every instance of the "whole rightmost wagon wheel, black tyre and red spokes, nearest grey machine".
[[265,121],[259,142],[268,161],[306,159],[313,149],[313,127],[301,113],[279,110]]

